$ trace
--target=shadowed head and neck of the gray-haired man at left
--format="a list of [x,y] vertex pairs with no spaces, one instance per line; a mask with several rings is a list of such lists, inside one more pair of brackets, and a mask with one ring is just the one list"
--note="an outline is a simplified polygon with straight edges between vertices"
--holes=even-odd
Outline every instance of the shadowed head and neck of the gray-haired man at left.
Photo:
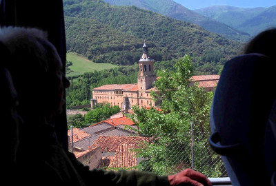
[[12,75],[19,112],[46,117],[60,112],[64,88],[70,83],[61,71],[61,59],[47,34],[36,28],[1,28],[0,42],[10,52],[8,60],[1,63]]

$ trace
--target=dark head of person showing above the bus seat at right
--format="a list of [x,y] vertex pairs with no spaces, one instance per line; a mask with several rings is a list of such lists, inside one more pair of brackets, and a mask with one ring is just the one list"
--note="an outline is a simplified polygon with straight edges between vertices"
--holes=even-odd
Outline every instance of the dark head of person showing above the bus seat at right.
[[276,58],[276,28],[257,34],[244,48],[244,54],[259,53]]

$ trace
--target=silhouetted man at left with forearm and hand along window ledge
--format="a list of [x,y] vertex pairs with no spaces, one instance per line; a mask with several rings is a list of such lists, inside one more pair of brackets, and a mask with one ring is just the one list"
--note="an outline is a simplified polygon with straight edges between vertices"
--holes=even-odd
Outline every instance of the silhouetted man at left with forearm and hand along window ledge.
[[[3,28],[0,42],[10,52],[6,68],[17,90],[19,147],[11,182],[21,185],[211,185],[203,174],[185,169],[175,175],[103,171],[82,165],[55,138],[53,118],[65,103],[70,83],[46,34],[34,28]],[[8,125],[8,123],[6,124]]]

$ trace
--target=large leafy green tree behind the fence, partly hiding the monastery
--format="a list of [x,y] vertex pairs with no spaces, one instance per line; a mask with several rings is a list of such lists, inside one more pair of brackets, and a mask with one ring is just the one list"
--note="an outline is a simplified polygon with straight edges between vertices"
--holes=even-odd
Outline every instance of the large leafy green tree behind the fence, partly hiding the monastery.
[[144,158],[138,168],[164,175],[192,167],[190,126],[193,123],[195,169],[207,176],[219,176],[223,164],[208,145],[213,92],[191,85],[193,65],[187,55],[175,63],[174,71],[161,70],[157,74],[155,86],[159,94],[153,96],[160,100],[161,112],[155,108],[132,107],[134,114],[130,115],[139,127],[139,134],[152,137],[146,149],[137,149]]

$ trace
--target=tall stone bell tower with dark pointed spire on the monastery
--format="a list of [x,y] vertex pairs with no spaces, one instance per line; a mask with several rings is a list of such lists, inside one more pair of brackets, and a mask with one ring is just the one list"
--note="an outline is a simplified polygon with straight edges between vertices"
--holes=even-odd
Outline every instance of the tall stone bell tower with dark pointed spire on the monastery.
[[143,45],[144,52],[139,60],[139,74],[138,74],[138,91],[139,93],[145,92],[150,87],[152,83],[156,81],[156,76],[153,74],[153,59],[150,59],[148,55],[148,44],[145,41]]

